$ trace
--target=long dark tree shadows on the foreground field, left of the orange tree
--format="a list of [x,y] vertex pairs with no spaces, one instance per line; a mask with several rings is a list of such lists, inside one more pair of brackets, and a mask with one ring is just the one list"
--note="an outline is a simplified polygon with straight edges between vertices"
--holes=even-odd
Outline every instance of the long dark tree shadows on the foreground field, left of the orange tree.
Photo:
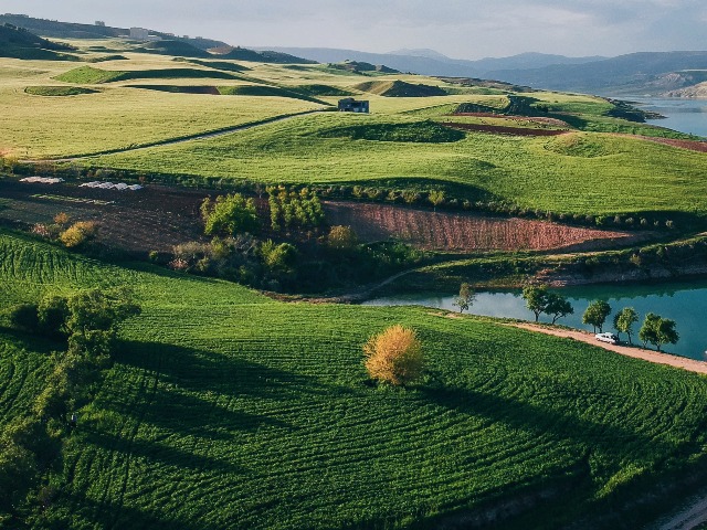
[[[107,379],[96,407],[117,413],[113,417],[120,420],[112,421],[108,430],[86,422],[86,442],[128,458],[186,469],[247,473],[228,458],[199,453],[214,443],[236,445],[243,434],[263,430],[286,434],[295,428],[267,413],[239,410],[239,402],[260,410],[287,396],[340,393],[338,386],[315,378],[173,344],[122,342],[115,358],[114,377]],[[129,369],[127,373],[122,365]],[[112,386],[114,378],[118,383]]]

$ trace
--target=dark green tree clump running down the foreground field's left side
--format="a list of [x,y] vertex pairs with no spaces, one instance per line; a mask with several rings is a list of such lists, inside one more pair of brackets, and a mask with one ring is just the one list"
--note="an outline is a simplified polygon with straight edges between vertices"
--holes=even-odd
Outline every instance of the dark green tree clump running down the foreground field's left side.
[[[89,401],[109,362],[117,326],[139,311],[125,288],[48,295],[39,304],[11,309],[12,326],[66,340],[66,350],[54,353],[54,370],[32,410],[0,435],[0,526],[12,521],[28,491],[55,462],[71,428],[70,412]],[[34,500],[46,504],[52,495],[52,488],[44,487]]]

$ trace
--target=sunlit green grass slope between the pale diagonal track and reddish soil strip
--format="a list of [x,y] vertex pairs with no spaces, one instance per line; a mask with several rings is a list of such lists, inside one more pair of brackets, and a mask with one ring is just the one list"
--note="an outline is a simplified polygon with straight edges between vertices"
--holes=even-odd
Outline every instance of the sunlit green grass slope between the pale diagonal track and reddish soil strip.
[[567,213],[706,212],[705,155],[646,140],[591,132],[555,138],[469,132],[461,141],[421,144],[337,132],[388,128],[393,136],[403,125],[421,121],[323,114],[211,140],[106,156],[93,163],[273,183],[393,181],[394,187],[437,181],[465,188],[472,197],[483,190],[524,208]]

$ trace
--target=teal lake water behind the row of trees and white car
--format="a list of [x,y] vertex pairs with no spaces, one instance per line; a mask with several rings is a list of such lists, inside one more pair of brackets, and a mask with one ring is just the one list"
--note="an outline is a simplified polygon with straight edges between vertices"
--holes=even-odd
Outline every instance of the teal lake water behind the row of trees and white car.
[[[574,315],[558,320],[558,324],[591,331],[591,326],[582,324],[582,314],[591,300],[603,299],[612,308],[606,319],[604,331],[612,331],[613,315],[624,307],[633,307],[639,312],[640,321],[634,329],[634,343],[646,312],[656,312],[664,318],[676,321],[680,336],[677,344],[666,344],[663,350],[698,360],[705,359],[707,350],[707,280],[675,282],[648,285],[592,285],[557,289],[572,304]],[[440,295],[401,295],[370,300],[367,305],[395,306],[423,305],[449,310],[458,310],[452,303],[454,296]],[[488,317],[519,318],[534,320],[535,316],[525,306],[520,292],[478,293],[471,308],[474,315]],[[541,317],[542,321],[550,319]],[[621,337],[625,340],[625,336]]]

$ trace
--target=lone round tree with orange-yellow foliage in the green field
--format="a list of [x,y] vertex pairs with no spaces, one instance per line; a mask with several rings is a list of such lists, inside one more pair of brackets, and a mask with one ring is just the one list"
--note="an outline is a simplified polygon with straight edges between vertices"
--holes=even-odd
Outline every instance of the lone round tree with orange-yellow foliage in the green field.
[[422,375],[422,343],[412,329],[391,326],[371,337],[363,353],[371,379],[405,385]]

